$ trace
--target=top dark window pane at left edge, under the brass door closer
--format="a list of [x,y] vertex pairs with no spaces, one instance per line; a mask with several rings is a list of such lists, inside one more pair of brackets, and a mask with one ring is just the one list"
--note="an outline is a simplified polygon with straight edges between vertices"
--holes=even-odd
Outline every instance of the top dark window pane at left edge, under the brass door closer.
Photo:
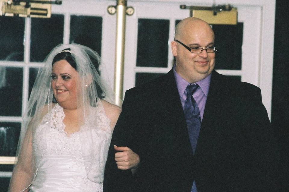
[[0,17],[0,60],[23,61],[23,17]]

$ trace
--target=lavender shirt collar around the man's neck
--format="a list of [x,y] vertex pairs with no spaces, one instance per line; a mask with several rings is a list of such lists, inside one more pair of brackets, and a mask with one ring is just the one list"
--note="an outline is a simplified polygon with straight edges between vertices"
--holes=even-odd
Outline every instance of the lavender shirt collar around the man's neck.
[[[176,84],[177,84],[177,88],[179,91],[179,95],[182,96],[187,88],[187,86],[190,84],[189,82],[187,82],[185,79],[183,79],[177,72],[176,72],[176,64],[173,67],[173,72],[174,72],[174,76],[176,79]],[[197,83],[200,88],[202,89],[202,91],[204,92],[204,94],[206,95],[206,97],[208,96],[208,92],[209,92],[209,87],[210,87],[210,82],[211,82],[211,76],[212,73],[210,73],[210,75],[208,75],[205,79],[202,79]]]

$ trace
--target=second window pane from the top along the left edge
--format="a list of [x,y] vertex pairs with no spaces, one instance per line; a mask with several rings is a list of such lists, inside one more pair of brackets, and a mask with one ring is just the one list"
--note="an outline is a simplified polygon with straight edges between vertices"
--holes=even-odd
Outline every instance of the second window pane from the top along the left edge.
[[0,116],[21,116],[23,69],[0,67]]

